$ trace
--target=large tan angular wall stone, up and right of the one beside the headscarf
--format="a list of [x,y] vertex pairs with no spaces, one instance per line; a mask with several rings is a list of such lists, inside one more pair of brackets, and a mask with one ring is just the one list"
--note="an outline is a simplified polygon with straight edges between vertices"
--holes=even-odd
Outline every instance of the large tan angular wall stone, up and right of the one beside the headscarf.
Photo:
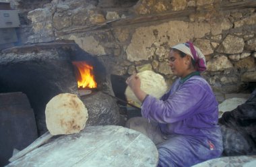
[[240,54],[243,52],[244,46],[243,38],[228,35],[216,51],[225,54]]

